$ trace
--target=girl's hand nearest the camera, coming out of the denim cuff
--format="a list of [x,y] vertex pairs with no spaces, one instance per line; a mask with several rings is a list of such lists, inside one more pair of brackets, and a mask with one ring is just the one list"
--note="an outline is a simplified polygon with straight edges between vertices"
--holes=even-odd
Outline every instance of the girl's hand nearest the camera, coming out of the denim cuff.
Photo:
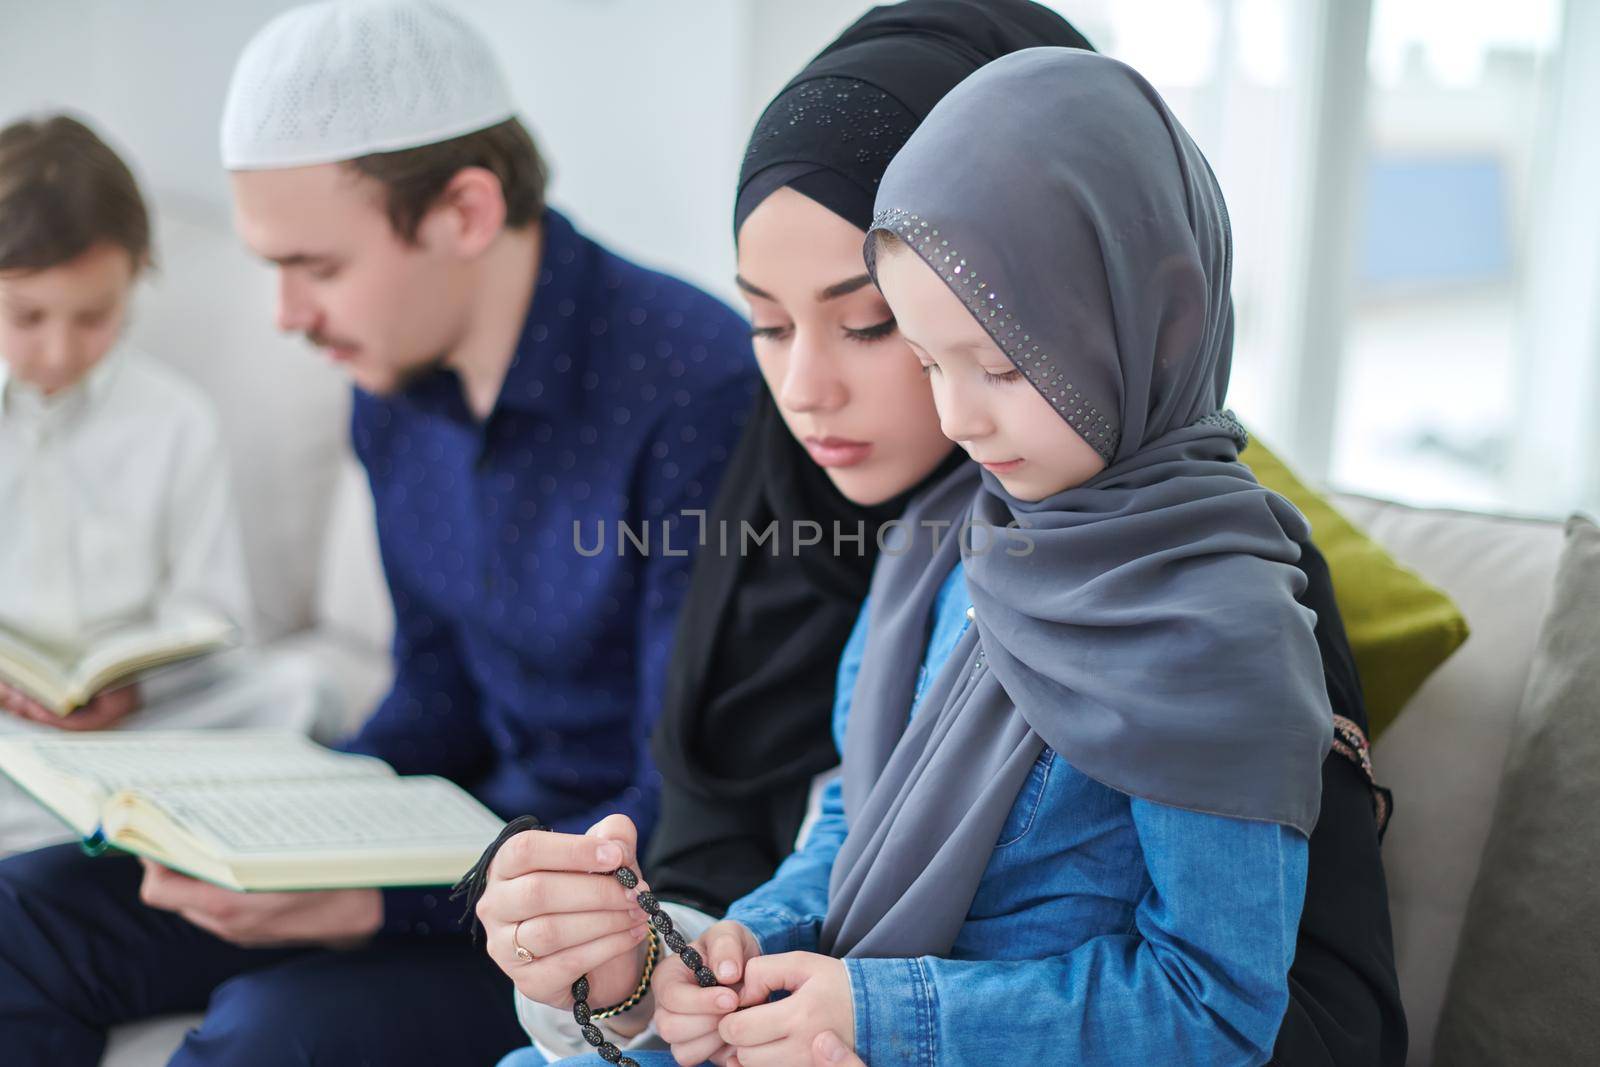
[[[778,990],[787,990],[789,997],[766,1003]],[[818,1038],[829,1032],[846,1046],[854,1045],[856,1005],[845,961],[814,952],[750,960],[739,1011],[717,1029],[722,1041],[733,1046],[739,1067],[808,1064]]]

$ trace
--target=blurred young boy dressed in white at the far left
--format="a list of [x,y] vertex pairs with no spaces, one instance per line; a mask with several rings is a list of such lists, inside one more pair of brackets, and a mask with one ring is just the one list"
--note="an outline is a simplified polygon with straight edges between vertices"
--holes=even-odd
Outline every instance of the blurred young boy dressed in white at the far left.
[[[88,126],[0,130],[0,627],[72,656],[203,608],[248,632],[251,598],[216,413],[122,342],[152,266],[139,187]],[[0,736],[69,729],[334,729],[298,659],[229,653],[114,686],[61,717],[0,677]],[[61,840],[0,779],[0,856]]]

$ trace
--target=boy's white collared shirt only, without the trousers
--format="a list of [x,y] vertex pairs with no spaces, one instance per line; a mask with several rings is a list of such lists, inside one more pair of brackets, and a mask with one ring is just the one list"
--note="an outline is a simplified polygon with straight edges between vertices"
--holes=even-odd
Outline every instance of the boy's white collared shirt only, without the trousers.
[[200,390],[120,346],[51,397],[0,363],[0,625],[61,649],[182,603],[251,601]]

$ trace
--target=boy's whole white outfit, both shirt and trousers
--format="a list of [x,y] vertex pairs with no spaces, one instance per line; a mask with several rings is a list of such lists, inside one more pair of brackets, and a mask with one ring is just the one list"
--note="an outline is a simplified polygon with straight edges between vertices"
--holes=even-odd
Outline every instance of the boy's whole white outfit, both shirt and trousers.
[[[62,651],[189,605],[248,635],[251,598],[218,419],[200,389],[130,346],[45,397],[0,363],[0,625]],[[338,729],[307,656],[235,649],[149,677],[117,729]],[[0,712],[0,736],[53,726]],[[67,840],[0,781],[0,856]]]

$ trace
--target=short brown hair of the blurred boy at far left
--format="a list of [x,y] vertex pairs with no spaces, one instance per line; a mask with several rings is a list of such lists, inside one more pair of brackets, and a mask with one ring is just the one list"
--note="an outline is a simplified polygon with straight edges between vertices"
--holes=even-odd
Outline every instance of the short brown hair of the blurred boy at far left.
[[0,270],[48,270],[101,243],[150,266],[150,216],[128,165],[69,115],[0,130]]

